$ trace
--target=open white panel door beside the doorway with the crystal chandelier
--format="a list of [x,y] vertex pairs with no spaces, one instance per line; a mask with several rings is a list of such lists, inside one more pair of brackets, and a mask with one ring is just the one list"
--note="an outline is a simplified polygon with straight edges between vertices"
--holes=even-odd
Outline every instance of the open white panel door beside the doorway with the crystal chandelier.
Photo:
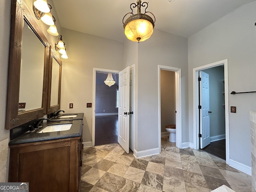
[[130,67],[119,73],[118,143],[129,153]]

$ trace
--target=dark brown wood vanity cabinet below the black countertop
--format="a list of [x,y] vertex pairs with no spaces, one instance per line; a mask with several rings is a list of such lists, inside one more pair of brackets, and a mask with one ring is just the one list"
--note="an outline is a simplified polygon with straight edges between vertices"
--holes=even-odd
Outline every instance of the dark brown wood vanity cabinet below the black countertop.
[[28,182],[31,192],[78,192],[82,137],[10,146],[9,182]]

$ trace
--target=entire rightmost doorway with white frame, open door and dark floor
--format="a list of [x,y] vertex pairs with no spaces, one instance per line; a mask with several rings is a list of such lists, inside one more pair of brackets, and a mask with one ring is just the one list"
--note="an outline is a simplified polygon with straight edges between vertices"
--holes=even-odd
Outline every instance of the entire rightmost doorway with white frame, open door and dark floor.
[[193,113],[195,122],[194,148],[201,148],[215,156],[226,159],[226,163],[228,164],[227,64],[227,60],[221,60],[193,69]]

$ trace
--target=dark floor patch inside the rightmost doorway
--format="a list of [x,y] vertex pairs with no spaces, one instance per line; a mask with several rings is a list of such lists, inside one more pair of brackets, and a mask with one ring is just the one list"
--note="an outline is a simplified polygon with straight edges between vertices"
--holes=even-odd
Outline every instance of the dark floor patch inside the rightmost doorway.
[[203,150],[226,160],[226,139],[211,142]]

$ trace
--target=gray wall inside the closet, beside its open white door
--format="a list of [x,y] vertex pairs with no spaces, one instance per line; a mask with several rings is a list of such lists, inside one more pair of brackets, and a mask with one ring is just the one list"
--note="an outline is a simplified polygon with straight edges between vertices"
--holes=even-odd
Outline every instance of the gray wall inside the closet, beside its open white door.
[[225,134],[224,67],[217,66],[202,70],[209,74],[210,87],[210,137]]

